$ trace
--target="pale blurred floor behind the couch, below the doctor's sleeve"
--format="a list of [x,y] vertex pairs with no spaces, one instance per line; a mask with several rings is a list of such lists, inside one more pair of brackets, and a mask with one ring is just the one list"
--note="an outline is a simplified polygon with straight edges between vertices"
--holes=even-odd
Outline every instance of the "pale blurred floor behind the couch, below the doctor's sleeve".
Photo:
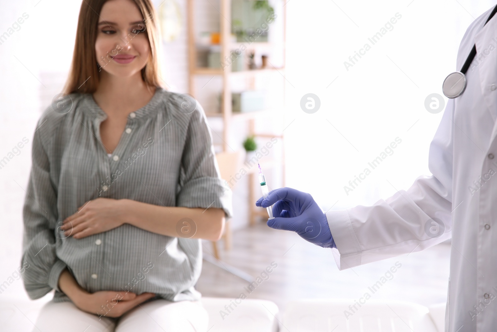
[[[211,242],[203,244],[204,255],[211,255]],[[224,247],[222,241],[219,245]],[[429,306],[447,298],[450,244],[441,243],[424,251],[339,271],[330,250],[309,243],[294,232],[275,230],[260,222],[234,232],[233,249],[221,250],[221,255],[223,262],[254,278],[271,262],[277,267],[268,278],[262,275],[267,280],[249,293],[245,288],[248,282],[204,260],[196,285],[203,296],[239,297],[244,293],[248,298],[274,301],[280,310],[287,301],[297,299],[359,299],[368,286],[399,262],[402,267],[372,294],[373,299]]]

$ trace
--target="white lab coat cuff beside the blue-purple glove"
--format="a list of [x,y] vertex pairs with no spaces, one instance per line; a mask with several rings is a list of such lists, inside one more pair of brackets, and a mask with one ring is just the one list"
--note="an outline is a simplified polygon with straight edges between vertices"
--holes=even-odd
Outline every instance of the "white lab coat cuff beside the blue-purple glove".
[[326,213],[326,219],[336,245],[336,248],[331,250],[338,269],[360,265],[362,250],[347,210],[329,211]]

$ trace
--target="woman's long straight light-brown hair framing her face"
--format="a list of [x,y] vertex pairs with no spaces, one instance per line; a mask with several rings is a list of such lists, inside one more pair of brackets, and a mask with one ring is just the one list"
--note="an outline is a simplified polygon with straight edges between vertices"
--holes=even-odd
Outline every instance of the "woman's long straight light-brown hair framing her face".
[[[142,69],[142,79],[148,86],[165,86],[160,82],[160,32],[156,20],[156,11],[151,0],[132,0],[136,3],[144,17],[145,30],[149,38],[151,54]],[[107,0],[83,0],[78,18],[76,42],[73,62],[62,93],[93,93],[100,82],[99,69],[96,62],[95,41],[98,33],[99,13]]]

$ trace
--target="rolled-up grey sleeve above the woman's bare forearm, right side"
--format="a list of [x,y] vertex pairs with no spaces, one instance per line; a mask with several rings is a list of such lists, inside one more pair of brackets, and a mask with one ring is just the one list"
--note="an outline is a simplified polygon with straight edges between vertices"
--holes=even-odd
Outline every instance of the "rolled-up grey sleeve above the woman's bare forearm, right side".
[[212,134],[200,104],[191,113],[188,123],[176,206],[219,208],[227,218],[233,216],[232,192],[220,177]]

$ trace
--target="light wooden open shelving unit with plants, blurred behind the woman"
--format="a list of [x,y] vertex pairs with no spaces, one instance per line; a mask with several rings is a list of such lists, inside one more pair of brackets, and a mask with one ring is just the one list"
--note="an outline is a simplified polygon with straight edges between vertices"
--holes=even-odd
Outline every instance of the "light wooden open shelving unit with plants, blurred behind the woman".
[[[207,1],[207,0],[206,0]],[[240,43],[234,43],[231,40],[231,1],[232,0],[219,0],[220,9],[216,9],[219,11],[220,15],[220,47],[221,47],[221,59],[225,59],[229,57],[231,52],[240,47]],[[189,94],[196,98],[196,79],[199,76],[218,76],[222,78],[222,100],[221,100],[221,111],[213,112],[206,111],[207,117],[220,118],[223,122],[222,129],[222,147],[223,152],[227,152],[231,150],[229,147],[230,140],[230,129],[232,127],[232,121],[246,121],[248,126],[248,135],[254,135],[255,137],[264,137],[264,138],[272,138],[276,137],[281,141],[281,151],[282,151],[282,161],[264,161],[264,170],[269,169],[271,167],[277,167],[277,165],[281,165],[281,174],[283,178],[283,186],[285,179],[285,168],[284,168],[284,136],[283,133],[279,135],[268,134],[255,132],[255,122],[259,118],[263,118],[264,116],[268,116],[272,112],[282,111],[283,108],[280,106],[278,109],[268,109],[263,111],[254,111],[254,112],[246,112],[246,113],[234,113],[232,110],[232,82],[236,80],[248,80],[250,78],[253,79],[256,75],[281,75],[284,78],[285,75],[285,37],[286,37],[286,10],[282,1],[282,15],[278,16],[276,19],[281,20],[280,24],[282,24],[282,36],[283,40],[278,43],[280,50],[282,52],[283,57],[283,65],[279,68],[264,68],[264,69],[253,69],[253,70],[244,70],[244,71],[232,71],[232,66],[226,67],[224,70],[222,68],[199,68],[197,67],[197,41],[195,34],[195,26],[194,22],[196,14],[203,14],[201,12],[195,12],[195,2],[196,0],[187,0],[187,18],[188,18],[188,64],[189,64],[189,75],[188,75],[188,89]],[[212,3],[211,3],[212,4]],[[245,52],[253,51],[253,50],[270,50],[275,46],[272,42],[252,42],[247,46]],[[282,48],[282,49],[281,49]],[[271,67],[271,65],[269,65]],[[284,80],[282,83],[282,101],[281,105],[284,105],[284,94],[285,94],[285,85]],[[283,128],[283,123],[281,123],[281,127]],[[257,167],[255,167],[257,168]],[[257,216],[262,216],[267,218],[266,209],[256,208],[254,202],[257,197],[260,196],[260,192],[254,192],[254,181],[256,180],[257,174],[254,168],[250,169],[248,172],[248,206],[250,211],[249,216],[249,224],[253,225],[256,222]]]

